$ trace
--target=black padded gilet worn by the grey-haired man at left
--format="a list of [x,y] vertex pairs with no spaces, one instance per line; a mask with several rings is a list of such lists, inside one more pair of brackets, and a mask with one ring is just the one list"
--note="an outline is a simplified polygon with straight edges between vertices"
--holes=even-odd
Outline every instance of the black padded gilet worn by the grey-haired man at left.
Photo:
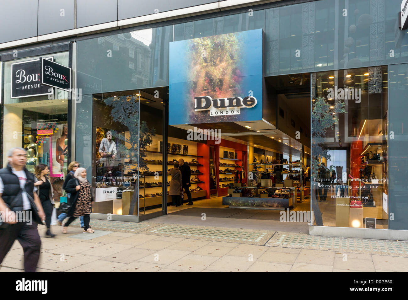
[[[25,184],[25,190],[27,194],[34,199],[34,175],[31,174],[26,168],[24,168],[24,172],[26,173],[27,182]],[[13,200],[16,198],[18,193],[20,192],[20,180],[11,170],[10,164],[7,167],[0,169],[0,178],[4,184],[4,191],[2,194],[2,199],[4,202],[10,206]],[[19,196],[19,199],[13,204],[13,207],[10,207],[12,211],[22,211],[23,210],[23,200],[22,197]]]

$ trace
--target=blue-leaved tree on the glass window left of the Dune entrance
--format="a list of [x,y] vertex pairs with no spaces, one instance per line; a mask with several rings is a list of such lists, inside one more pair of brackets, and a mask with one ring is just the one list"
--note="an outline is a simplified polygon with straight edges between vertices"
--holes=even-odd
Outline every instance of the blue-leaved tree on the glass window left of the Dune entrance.
[[[116,122],[126,126],[129,130],[129,136],[120,136],[123,139],[123,143],[118,143],[118,152],[121,153],[122,158],[129,159],[129,164],[124,169],[133,169],[137,175],[137,181],[135,184],[135,191],[131,200],[131,206],[129,209],[129,215],[133,215],[133,210],[137,197],[139,195],[139,176],[138,171],[149,171],[149,167],[145,162],[147,153],[143,152],[147,150],[152,143],[152,137],[156,134],[156,129],[149,129],[146,121],[140,122],[139,116],[139,97],[133,94],[132,96],[122,97],[109,97],[104,100],[106,105],[109,105],[111,110],[111,116]],[[139,127],[140,122],[140,127]],[[127,173],[125,171],[125,173]]]

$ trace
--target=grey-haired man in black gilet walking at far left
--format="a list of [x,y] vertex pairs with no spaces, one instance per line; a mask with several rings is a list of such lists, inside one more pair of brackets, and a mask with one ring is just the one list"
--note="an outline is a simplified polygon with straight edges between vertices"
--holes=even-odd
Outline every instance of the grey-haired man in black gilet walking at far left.
[[35,272],[40,258],[41,240],[37,223],[29,217],[34,215],[30,211],[34,209],[32,201],[41,220],[45,220],[45,214],[40,198],[35,193],[35,178],[25,168],[26,151],[22,148],[10,149],[7,158],[7,167],[0,169],[0,211],[6,224],[6,227],[0,228],[0,264],[17,239],[24,251],[25,271]]

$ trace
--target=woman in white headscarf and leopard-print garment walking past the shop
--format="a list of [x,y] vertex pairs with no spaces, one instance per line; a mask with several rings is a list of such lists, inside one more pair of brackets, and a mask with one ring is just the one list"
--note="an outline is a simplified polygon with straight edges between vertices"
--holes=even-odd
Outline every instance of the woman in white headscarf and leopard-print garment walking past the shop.
[[62,227],[62,233],[67,233],[67,227],[79,216],[84,216],[84,233],[94,233],[89,228],[89,220],[91,214],[91,204],[93,201],[91,184],[86,179],[86,170],[84,168],[76,169],[74,178],[69,180],[65,187],[67,193],[71,193],[71,208],[69,209],[67,216],[67,223]]

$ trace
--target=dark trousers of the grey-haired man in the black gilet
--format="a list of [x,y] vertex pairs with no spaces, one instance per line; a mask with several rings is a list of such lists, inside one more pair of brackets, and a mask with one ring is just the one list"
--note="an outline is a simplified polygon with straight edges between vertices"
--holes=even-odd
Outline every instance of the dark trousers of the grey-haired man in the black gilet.
[[41,248],[37,223],[27,225],[26,222],[18,222],[17,224],[9,224],[7,228],[0,229],[0,264],[16,239],[23,247],[24,270],[26,272],[35,272]]

